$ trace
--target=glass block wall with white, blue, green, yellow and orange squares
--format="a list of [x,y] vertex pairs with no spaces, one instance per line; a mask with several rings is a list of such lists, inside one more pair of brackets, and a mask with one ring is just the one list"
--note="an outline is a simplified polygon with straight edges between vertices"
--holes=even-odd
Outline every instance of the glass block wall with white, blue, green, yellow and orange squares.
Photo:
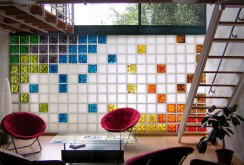
[[103,132],[100,120],[107,112],[132,107],[141,113],[134,132],[174,134],[203,40],[203,35],[10,36],[13,111],[39,115],[46,132]]

